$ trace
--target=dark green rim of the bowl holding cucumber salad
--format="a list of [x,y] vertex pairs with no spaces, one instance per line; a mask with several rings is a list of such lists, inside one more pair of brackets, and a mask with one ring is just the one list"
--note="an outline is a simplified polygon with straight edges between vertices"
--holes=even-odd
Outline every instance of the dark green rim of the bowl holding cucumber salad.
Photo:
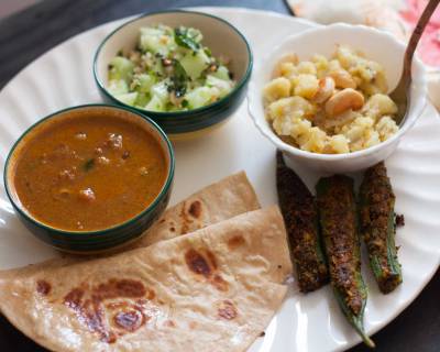
[[[106,86],[101,82],[101,80],[98,78],[98,74],[97,74],[97,62],[98,62],[98,56],[101,52],[102,46],[107,43],[107,41],[113,36],[117,32],[119,32],[119,30],[121,30],[122,28],[124,28],[125,25],[135,22],[140,19],[150,16],[150,15],[154,15],[154,14],[161,14],[161,13],[195,13],[198,15],[202,15],[202,16],[207,16],[207,18],[211,18],[213,20],[220,21],[224,24],[227,24],[228,26],[230,26],[244,42],[244,44],[246,45],[246,52],[248,52],[248,57],[249,57],[249,63],[248,63],[248,67],[246,70],[243,75],[243,77],[240,79],[240,81],[237,84],[237,86],[223,98],[221,98],[220,100],[217,100],[216,102],[212,102],[208,106],[201,107],[201,108],[197,108],[197,109],[191,109],[191,110],[184,110],[184,111],[169,111],[169,112],[163,112],[163,111],[152,111],[152,110],[144,110],[144,109],[139,109],[132,106],[129,106],[120,100],[118,100],[117,98],[114,98],[106,88]],[[113,30],[110,34],[108,34],[105,40],[101,42],[101,44],[99,44],[98,50],[95,53],[94,56],[94,78],[95,81],[97,82],[99,89],[101,89],[101,91],[106,95],[106,97],[108,97],[111,101],[113,101],[114,103],[117,103],[118,106],[124,107],[124,108],[129,108],[129,109],[134,109],[136,111],[141,111],[144,112],[146,114],[152,113],[157,118],[179,118],[182,116],[185,116],[187,113],[197,113],[197,112],[204,112],[204,111],[209,111],[212,108],[216,108],[218,106],[221,106],[224,101],[229,100],[237,91],[239,91],[249,80],[249,77],[251,76],[252,73],[252,67],[253,67],[253,54],[252,54],[252,50],[251,46],[249,45],[248,40],[245,38],[245,36],[231,23],[229,23],[228,21],[213,15],[213,14],[209,14],[209,13],[204,13],[204,12],[198,12],[198,11],[187,11],[187,10],[180,10],[180,9],[170,9],[170,10],[163,10],[163,11],[154,11],[154,12],[146,12],[143,13],[139,16],[136,16],[133,20],[130,20],[123,24],[121,24],[120,26],[118,26],[116,30]]]

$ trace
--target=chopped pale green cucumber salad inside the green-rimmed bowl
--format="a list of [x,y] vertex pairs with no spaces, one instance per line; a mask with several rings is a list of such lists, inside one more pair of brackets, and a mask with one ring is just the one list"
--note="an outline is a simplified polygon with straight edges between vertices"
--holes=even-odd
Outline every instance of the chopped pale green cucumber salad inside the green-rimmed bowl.
[[142,28],[138,47],[109,64],[108,91],[129,106],[182,111],[212,103],[233,86],[228,61],[213,57],[193,28]]

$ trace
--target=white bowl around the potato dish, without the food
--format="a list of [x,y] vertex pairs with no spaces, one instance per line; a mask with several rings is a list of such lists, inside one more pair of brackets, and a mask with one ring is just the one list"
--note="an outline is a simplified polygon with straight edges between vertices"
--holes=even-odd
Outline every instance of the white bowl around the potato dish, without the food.
[[326,173],[349,173],[364,169],[387,158],[397,147],[400,139],[415,124],[427,102],[426,73],[421,62],[413,62],[409,116],[399,131],[387,141],[366,150],[346,154],[317,154],[301,151],[284,143],[266,121],[263,106],[263,87],[270,81],[272,72],[280,57],[296,54],[300,61],[314,54],[330,57],[337,44],[346,44],[380,63],[386,74],[389,91],[394,89],[403,68],[406,45],[386,32],[364,25],[331,24],[292,35],[274,48],[267,57],[255,63],[255,70],[248,92],[249,112],[256,128],[294,163]]

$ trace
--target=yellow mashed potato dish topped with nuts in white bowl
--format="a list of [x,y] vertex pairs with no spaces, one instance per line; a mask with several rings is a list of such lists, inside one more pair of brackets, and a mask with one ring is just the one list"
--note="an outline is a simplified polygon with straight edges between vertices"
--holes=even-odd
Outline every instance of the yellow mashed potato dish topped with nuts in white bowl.
[[266,119],[286,143],[321,154],[350,153],[394,133],[397,106],[383,67],[344,45],[326,58],[283,57],[265,86]]

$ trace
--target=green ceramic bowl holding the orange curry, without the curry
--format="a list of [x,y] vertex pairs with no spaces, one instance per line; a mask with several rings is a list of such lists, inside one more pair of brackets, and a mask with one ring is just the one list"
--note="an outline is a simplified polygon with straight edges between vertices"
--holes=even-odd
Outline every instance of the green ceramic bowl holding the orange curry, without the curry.
[[[142,123],[164,150],[164,155],[167,163],[167,176],[156,199],[132,219],[99,231],[65,231],[36,220],[23,207],[16,195],[13,184],[16,160],[20,151],[23,146],[25,146],[26,141],[32,138],[32,133],[30,133],[31,131],[43,131],[45,125],[47,125],[54,119],[63,119],[67,117],[90,113],[102,113],[105,116],[112,116],[133,122],[135,121],[136,123]],[[155,220],[157,220],[168,205],[174,177],[174,164],[175,161],[172,144],[162,129],[154,121],[134,110],[122,107],[87,105],[55,112],[36,122],[20,136],[20,139],[12,146],[12,150],[9,153],[6,162],[4,188],[21,221],[38,239],[62,251],[89,254],[102,252],[109,249],[121,246],[130,241],[134,241],[141,237],[142,233],[144,233]]]

